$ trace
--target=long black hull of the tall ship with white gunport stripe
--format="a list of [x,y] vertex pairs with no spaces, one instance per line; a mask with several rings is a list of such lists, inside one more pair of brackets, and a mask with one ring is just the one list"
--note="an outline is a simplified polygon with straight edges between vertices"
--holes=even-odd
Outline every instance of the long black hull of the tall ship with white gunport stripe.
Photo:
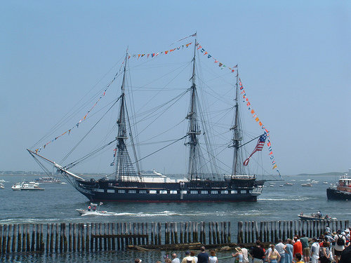
[[92,202],[238,202],[257,201],[263,181],[153,183],[115,180],[81,181],[75,187]]

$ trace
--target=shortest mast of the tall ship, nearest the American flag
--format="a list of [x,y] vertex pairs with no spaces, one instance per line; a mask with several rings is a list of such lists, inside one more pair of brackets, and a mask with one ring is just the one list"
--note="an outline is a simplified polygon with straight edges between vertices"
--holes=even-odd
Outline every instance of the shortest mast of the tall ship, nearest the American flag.
[[239,119],[239,71],[237,69],[237,83],[235,84],[235,116],[234,116],[234,126],[230,128],[233,130],[233,144],[234,156],[233,156],[233,168],[232,175],[238,175],[241,171],[239,170],[239,147],[241,144],[242,136],[240,130],[240,119]]

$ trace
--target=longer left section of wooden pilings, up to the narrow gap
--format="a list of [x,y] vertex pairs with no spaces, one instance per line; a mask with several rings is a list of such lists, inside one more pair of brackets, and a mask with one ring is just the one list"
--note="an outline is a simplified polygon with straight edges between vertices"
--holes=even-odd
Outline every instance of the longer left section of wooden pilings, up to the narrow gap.
[[230,222],[0,224],[0,254],[124,250],[128,245],[221,244],[230,243],[230,237]]

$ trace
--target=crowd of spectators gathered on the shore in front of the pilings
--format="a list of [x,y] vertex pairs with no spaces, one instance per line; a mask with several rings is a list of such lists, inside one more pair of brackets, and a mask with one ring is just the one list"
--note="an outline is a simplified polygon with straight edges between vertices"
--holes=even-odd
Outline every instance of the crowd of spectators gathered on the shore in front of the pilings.
[[[351,263],[350,231],[351,227],[331,233],[331,229],[326,227],[324,234],[318,238],[308,238],[303,233],[285,242],[279,240],[266,249],[263,243],[256,241],[252,248],[235,248],[231,257],[233,263]],[[215,250],[206,252],[203,246],[198,255],[186,251],[185,257],[180,259],[173,253],[171,257],[164,257],[164,262],[156,263],[218,263],[218,259],[226,258],[218,258]],[[135,259],[135,263],[140,262],[141,259]]]

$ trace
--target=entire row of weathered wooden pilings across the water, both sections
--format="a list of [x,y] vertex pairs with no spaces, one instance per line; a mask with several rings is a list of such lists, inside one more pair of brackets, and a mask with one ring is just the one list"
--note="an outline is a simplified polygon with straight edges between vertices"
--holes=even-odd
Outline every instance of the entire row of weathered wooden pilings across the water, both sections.
[[[320,236],[326,227],[336,231],[348,226],[348,220],[238,222],[236,241],[276,243],[303,232]],[[128,245],[223,245],[232,243],[232,236],[230,222],[0,224],[0,254],[124,250]]]

